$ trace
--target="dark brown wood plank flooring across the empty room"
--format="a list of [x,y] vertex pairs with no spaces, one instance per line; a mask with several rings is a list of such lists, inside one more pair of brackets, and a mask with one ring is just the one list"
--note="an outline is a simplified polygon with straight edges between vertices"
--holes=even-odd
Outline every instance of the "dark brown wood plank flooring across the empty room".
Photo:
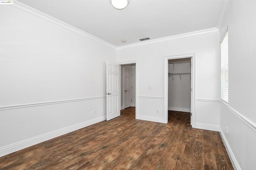
[[135,107],[38,145],[0,157],[1,170],[231,170],[220,134],[190,127],[190,113],[169,122],[135,119]]

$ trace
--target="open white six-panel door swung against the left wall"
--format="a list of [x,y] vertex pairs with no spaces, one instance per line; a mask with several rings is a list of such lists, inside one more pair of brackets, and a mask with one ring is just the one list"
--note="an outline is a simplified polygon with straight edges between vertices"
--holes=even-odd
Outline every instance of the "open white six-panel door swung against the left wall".
[[107,121],[120,116],[119,64],[107,61]]

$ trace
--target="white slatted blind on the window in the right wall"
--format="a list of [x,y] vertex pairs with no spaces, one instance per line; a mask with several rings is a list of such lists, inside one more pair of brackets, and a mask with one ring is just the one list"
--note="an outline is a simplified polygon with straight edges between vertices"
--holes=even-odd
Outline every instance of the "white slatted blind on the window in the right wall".
[[220,43],[221,53],[221,80],[220,80],[220,98],[228,103],[228,33]]

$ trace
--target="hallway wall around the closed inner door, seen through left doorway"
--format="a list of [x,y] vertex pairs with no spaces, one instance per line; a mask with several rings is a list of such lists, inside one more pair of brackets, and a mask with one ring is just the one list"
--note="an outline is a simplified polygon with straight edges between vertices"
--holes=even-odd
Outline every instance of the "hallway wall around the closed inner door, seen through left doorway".
[[132,69],[132,107],[136,105],[136,66],[124,64],[121,65],[121,109],[124,109],[124,68]]

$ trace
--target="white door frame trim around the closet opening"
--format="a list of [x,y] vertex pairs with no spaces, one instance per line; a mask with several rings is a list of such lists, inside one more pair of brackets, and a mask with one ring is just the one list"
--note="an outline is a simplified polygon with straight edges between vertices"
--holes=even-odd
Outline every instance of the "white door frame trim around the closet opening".
[[175,55],[175,56],[168,56],[164,57],[164,122],[168,123],[168,60],[170,59],[182,59],[182,58],[191,58],[191,88],[192,88],[192,100],[191,100],[191,113],[192,119],[191,125],[192,127],[196,127],[196,112],[195,112],[195,102],[196,102],[196,62],[195,62],[195,54],[188,54],[188,55]]

